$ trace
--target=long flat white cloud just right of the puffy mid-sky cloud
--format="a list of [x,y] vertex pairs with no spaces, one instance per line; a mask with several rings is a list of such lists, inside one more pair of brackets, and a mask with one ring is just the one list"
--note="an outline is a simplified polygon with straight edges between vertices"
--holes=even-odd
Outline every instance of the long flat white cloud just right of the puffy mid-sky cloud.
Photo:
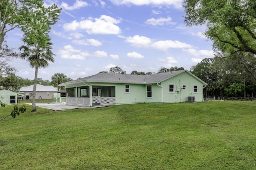
[[166,40],[166,41],[157,41],[151,45],[154,49],[167,51],[169,48],[191,48],[192,45],[182,43],[180,41],[172,41],[172,40]]

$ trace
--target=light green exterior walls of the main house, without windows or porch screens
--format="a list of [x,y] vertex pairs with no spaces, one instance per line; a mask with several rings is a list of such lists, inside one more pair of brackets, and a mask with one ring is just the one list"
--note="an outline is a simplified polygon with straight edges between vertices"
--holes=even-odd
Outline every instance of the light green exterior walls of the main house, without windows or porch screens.
[[[188,96],[195,96],[195,102],[202,102],[203,84],[200,80],[188,72],[183,72],[172,78],[164,80],[158,84],[124,84],[124,83],[97,83],[87,82],[90,86],[115,86],[116,104],[134,104],[134,103],[176,103],[187,102]],[[169,92],[169,85],[174,85],[174,92]],[[126,86],[129,85],[129,92],[126,92]],[[147,86],[152,86],[152,97],[147,98]],[[183,89],[183,85],[186,89]],[[69,84],[66,88],[86,86],[83,83]],[[162,87],[160,87],[162,86]],[[194,92],[194,86],[197,86],[197,92]],[[92,99],[90,99],[92,100]],[[92,102],[91,102],[92,103]]]

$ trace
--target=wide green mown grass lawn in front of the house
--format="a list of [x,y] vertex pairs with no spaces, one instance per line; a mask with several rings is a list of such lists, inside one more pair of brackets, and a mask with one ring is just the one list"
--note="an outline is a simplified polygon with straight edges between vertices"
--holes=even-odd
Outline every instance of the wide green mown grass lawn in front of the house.
[[[0,121],[0,169],[256,169],[255,102],[132,104]],[[12,107],[0,109],[0,117]]]

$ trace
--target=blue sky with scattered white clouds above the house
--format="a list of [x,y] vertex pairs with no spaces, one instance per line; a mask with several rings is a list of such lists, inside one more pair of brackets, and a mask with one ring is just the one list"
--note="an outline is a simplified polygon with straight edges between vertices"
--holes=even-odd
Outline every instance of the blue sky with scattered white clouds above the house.
[[[205,27],[186,27],[182,0],[44,0],[62,8],[50,37],[55,62],[38,70],[38,78],[54,73],[77,79],[119,66],[126,74],[157,72],[161,66],[184,67],[213,57]],[[8,33],[12,47],[22,44],[22,32]],[[17,76],[34,79],[29,63],[10,61]]]

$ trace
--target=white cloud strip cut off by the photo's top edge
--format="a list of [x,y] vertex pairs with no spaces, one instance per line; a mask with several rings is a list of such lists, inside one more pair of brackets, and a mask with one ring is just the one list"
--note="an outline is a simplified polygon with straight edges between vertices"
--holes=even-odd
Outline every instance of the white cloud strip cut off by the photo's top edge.
[[110,0],[116,5],[173,5],[175,8],[182,8],[183,0]]

